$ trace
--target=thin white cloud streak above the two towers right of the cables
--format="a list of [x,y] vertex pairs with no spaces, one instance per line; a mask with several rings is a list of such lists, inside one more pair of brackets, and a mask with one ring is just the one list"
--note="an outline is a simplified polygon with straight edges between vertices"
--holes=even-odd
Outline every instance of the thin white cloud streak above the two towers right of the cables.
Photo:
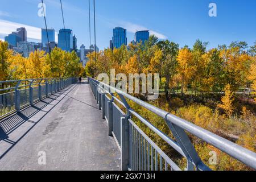
[[134,24],[134,23],[130,23],[130,22],[119,22],[118,23],[119,26],[126,28],[127,31],[131,32],[131,33],[135,33],[137,31],[141,31],[141,30],[149,30],[150,31],[150,35],[155,35],[157,36],[159,39],[167,39],[166,35],[160,34],[159,32],[156,32],[154,30],[150,30],[146,27],[140,26],[138,24]]

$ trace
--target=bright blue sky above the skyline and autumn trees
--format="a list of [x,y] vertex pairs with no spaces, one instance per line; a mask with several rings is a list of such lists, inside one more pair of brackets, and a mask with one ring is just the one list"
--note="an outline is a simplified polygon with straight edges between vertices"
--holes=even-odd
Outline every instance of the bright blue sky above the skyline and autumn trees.
[[[150,30],[161,39],[183,47],[196,39],[209,42],[209,47],[243,40],[250,46],[256,41],[255,0],[95,0],[96,44],[109,47],[113,28],[127,29],[128,42],[136,30]],[[44,20],[38,16],[40,0],[1,0],[0,39],[16,27],[25,26],[29,40],[40,41]],[[63,28],[59,0],[44,0],[48,27],[56,32]],[[216,3],[217,17],[208,15],[209,3]],[[93,1],[91,0],[91,5]],[[78,39],[77,46],[89,47],[88,0],[63,0],[66,28]],[[92,10],[92,8],[91,8]],[[92,14],[93,18],[93,14]],[[93,26],[92,26],[93,27]],[[93,30],[93,29],[92,29]],[[93,31],[92,31],[93,32]],[[93,38],[93,34],[92,34]],[[92,39],[93,40],[93,39]]]

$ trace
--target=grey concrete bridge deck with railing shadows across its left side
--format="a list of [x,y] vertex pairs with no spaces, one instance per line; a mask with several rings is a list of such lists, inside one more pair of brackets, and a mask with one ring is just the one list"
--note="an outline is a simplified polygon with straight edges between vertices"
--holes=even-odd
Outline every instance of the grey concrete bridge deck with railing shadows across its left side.
[[119,170],[119,150],[95,103],[82,82],[0,121],[0,170]]

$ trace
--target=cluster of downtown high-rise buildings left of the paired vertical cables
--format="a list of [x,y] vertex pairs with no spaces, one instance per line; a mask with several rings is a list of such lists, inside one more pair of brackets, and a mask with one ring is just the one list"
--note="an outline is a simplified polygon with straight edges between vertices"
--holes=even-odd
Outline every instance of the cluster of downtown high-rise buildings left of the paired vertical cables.
[[[88,52],[94,50],[94,45],[91,44],[89,49],[85,49],[84,44],[81,47],[84,47],[84,53],[81,55],[81,47],[77,49],[77,38],[76,35],[73,36],[73,32],[71,29],[60,29],[59,34],[57,36],[58,42],[55,42],[55,29],[54,28],[42,28],[41,29],[41,40],[40,42],[28,42],[27,41],[27,30],[24,27],[16,28],[16,31],[11,32],[8,36],[5,36],[5,41],[9,43],[9,48],[13,49],[14,52],[22,54],[24,57],[28,57],[31,52],[36,50],[43,50],[46,53],[49,53],[51,49],[55,47],[59,47],[64,51],[71,52],[75,51],[77,56],[81,57],[81,62],[85,65],[85,61],[87,60],[85,57]],[[66,36],[66,38],[65,38]],[[49,42],[48,42],[49,39]],[[69,39],[69,41],[67,41]],[[67,42],[66,42],[67,41]],[[67,49],[69,48],[69,49]],[[99,52],[100,49],[96,46],[96,52]]]

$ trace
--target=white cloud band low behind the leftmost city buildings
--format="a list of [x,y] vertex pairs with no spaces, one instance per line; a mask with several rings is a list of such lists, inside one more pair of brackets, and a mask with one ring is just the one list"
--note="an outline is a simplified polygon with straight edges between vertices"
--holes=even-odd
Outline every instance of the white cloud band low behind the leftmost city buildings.
[[[0,19],[0,39],[3,39],[4,36],[11,34],[15,31],[16,28],[25,27],[27,30],[27,38],[35,41],[41,42],[41,28],[28,26],[27,24],[15,23],[6,20]],[[55,32],[55,41],[57,42],[58,34]]]

